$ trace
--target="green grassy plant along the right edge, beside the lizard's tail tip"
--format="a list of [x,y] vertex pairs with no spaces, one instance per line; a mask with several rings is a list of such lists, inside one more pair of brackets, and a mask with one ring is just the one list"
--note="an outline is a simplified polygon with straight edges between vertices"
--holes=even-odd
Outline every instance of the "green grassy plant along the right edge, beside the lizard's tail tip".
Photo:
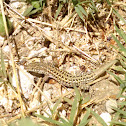
[[[124,43],[126,43],[126,34],[123,32],[122,29],[119,29],[117,26],[115,26],[115,29],[118,33],[118,35],[122,38],[122,41],[124,40]],[[126,91],[126,48],[123,46],[123,44],[115,37],[115,35],[112,34],[113,39],[118,45],[118,48],[113,46],[118,52],[118,55],[120,57],[120,63],[121,66],[116,66],[114,67],[114,70],[120,72],[120,73],[125,73],[125,79],[121,79],[119,76],[113,74],[112,72],[109,72],[111,75],[115,77],[115,79],[119,82],[120,84],[120,93],[118,95],[118,98],[123,98],[124,100],[118,104],[118,108],[114,108],[115,110],[115,117],[111,121],[111,125],[126,125],[123,120],[126,119],[126,96],[123,95],[123,93]],[[121,121],[119,121],[121,120]]]

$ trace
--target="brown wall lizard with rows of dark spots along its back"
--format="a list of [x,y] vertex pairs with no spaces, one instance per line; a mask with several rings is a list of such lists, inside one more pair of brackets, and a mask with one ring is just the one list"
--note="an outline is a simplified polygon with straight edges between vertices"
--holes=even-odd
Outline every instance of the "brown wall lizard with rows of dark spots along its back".
[[75,84],[77,87],[84,89],[85,84],[94,81],[101,74],[103,74],[108,68],[113,64],[117,63],[118,60],[112,60],[111,62],[105,64],[99,69],[92,71],[91,73],[82,73],[81,75],[72,75],[66,71],[60,70],[53,65],[49,65],[44,62],[33,62],[28,65],[25,65],[25,69],[28,72],[35,72],[38,74],[45,74],[49,77],[54,78],[58,83],[66,87],[73,87]]

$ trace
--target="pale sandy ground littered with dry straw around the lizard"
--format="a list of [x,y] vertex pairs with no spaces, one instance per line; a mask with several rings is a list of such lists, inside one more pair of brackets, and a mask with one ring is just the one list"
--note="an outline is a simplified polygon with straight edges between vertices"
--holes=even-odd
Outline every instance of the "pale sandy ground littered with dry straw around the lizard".
[[[116,50],[111,46],[117,47],[111,37],[111,33],[116,34],[114,21],[123,29],[125,26],[119,23],[114,16],[107,19],[107,15],[104,13],[105,5],[100,8],[97,20],[91,19],[84,23],[77,14],[67,20],[71,13],[65,16],[63,16],[64,13],[60,13],[58,19],[54,20],[53,11],[55,12],[55,9],[50,16],[49,7],[45,7],[42,13],[33,18],[25,18],[24,21],[14,11],[22,14],[28,5],[25,2],[19,2],[17,7],[14,3],[16,4],[16,2],[9,3],[13,10],[9,8],[7,12],[14,24],[14,32],[10,35],[9,40],[14,61],[20,67],[20,69],[18,68],[18,79],[20,80],[18,82],[24,111],[27,113],[26,115],[35,120],[35,117],[32,116],[33,112],[43,115],[46,115],[44,111],[50,112],[47,102],[50,104],[50,108],[53,108],[60,97],[73,100],[75,93],[73,88],[62,87],[53,77],[44,82],[44,75],[34,76],[24,69],[24,65],[41,59],[47,64],[54,64],[59,69],[73,75],[91,72],[117,57]],[[119,13],[124,14],[124,11],[120,9]],[[7,72],[12,77],[11,85],[14,89],[7,83],[0,84],[0,118],[2,121],[4,120],[3,122],[11,122],[20,117],[21,108],[15,92],[17,86],[6,42],[5,39],[0,45],[4,58],[7,60]],[[114,70],[111,69],[111,71],[115,73]],[[33,83],[40,88],[41,92]],[[106,102],[109,100],[118,102],[119,99],[116,97],[118,93],[119,84],[113,76],[105,73],[98,82],[90,85],[88,90],[81,92],[83,99],[90,97],[90,100],[82,105],[82,110],[85,112],[85,107],[92,107],[99,115],[108,112],[113,117],[113,114],[106,109]],[[58,109],[58,112],[60,111],[69,119],[70,104],[62,99]],[[77,123],[81,120],[80,118]],[[96,119],[92,118],[89,125],[93,124],[100,125]]]

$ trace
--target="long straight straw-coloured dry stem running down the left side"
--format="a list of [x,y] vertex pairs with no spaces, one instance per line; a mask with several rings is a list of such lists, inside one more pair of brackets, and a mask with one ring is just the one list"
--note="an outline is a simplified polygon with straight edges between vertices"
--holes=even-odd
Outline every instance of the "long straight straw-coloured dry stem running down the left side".
[[21,94],[20,94],[20,86],[19,86],[19,83],[18,83],[18,77],[17,77],[17,72],[16,72],[16,68],[15,68],[15,63],[14,63],[14,57],[13,57],[13,54],[12,54],[12,51],[11,51],[11,45],[10,45],[10,41],[9,41],[9,33],[8,33],[7,22],[6,22],[6,18],[5,18],[5,14],[4,14],[4,8],[3,8],[2,0],[0,0],[0,4],[1,4],[1,10],[2,10],[5,32],[6,32],[6,35],[7,35],[7,42],[8,42],[8,45],[9,45],[12,68],[13,68],[13,72],[14,72],[14,76],[15,76],[16,85],[17,85],[17,92],[18,92],[18,98],[19,98],[19,102],[20,102],[20,106],[21,106],[21,113],[22,113],[22,116],[25,117],[24,109],[23,109],[24,105],[23,105],[23,101],[22,101],[22,98],[21,98]]

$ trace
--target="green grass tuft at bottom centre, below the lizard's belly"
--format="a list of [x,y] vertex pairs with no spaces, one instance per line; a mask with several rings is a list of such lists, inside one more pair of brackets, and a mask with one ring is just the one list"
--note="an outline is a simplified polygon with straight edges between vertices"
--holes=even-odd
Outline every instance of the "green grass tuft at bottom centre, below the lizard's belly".
[[[65,101],[67,101],[69,104],[72,105],[69,119],[67,119],[66,117],[62,118],[59,114],[58,114],[59,120],[53,119],[53,114],[56,112],[56,109],[57,109],[58,104],[60,103],[61,99],[59,99],[56,102],[55,106],[51,110],[51,115],[48,114],[49,117],[45,117],[43,115],[36,115],[36,114],[35,115],[39,118],[42,118],[43,120],[45,120],[47,122],[56,124],[58,126],[77,125],[76,121],[78,118],[80,118],[79,114],[83,111],[80,109],[81,105],[86,103],[87,101],[89,101],[89,99],[83,100],[82,96],[80,95],[79,90],[75,86],[74,86],[74,89],[76,92],[74,101],[71,101],[70,99],[65,98]],[[104,120],[97,113],[92,111],[91,108],[85,108],[85,109],[86,109],[86,112],[85,112],[83,118],[80,120],[80,123],[77,126],[86,126],[89,123],[91,116],[94,116],[100,124],[107,126],[107,124],[104,122]]]

